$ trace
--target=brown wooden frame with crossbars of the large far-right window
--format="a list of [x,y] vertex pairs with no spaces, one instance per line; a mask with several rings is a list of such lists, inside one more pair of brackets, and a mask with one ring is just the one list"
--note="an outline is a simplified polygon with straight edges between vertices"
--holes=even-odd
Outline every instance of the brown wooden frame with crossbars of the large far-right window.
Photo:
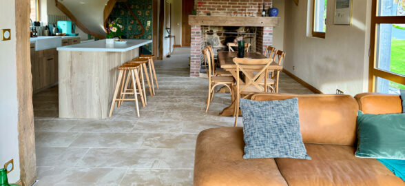
[[382,23],[405,23],[404,16],[378,16],[378,2],[377,0],[372,1],[371,8],[371,38],[370,38],[370,59],[368,67],[368,92],[375,92],[375,82],[376,78],[380,77],[387,79],[388,81],[393,81],[405,85],[405,76],[401,74],[395,74],[394,72],[388,72],[386,70],[381,70],[376,68],[377,62],[377,27],[378,24]]

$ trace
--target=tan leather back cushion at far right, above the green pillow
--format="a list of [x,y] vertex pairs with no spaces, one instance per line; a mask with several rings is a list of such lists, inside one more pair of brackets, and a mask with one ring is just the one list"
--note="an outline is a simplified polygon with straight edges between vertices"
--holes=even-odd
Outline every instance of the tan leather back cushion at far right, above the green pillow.
[[401,98],[394,94],[362,93],[355,95],[364,114],[402,113]]

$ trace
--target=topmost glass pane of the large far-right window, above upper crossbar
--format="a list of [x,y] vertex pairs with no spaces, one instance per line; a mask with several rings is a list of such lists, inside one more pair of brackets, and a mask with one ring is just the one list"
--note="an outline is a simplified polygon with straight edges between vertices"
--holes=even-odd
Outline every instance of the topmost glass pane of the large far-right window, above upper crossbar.
[[378,16],[405,16],[405,0],[378,0]]

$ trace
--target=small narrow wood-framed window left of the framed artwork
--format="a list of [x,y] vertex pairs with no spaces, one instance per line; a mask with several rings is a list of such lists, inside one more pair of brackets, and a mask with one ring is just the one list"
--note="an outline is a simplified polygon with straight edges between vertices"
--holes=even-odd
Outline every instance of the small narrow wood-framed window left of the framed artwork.
[[312,36],[325,38],[325,32],[326,32],[326,0],[314,0]]

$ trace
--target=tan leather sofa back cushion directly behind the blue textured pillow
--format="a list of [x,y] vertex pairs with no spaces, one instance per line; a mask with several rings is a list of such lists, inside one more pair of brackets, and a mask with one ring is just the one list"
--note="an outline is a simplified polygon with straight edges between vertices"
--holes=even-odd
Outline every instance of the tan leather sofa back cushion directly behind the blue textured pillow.
[[[359,107],[349,95],[256,94],[256,101],[298,98],[298,113],[304,143],[355,145]],[[309,154],[311,156],[311,154]]]

